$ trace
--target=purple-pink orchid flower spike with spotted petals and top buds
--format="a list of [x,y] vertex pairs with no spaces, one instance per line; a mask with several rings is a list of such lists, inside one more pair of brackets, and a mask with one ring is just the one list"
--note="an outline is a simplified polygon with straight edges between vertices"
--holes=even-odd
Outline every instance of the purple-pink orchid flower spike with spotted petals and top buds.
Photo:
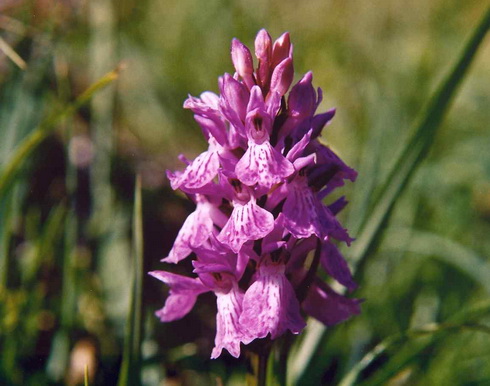
[[318,140],[335,110],[315,113],[322,91],[313,88],[312,73],[286,97],[292,53],[288,33],[272,42],[261,30],[254,68],[249,49],[233,39],[236,72],[219,78],[220,95],[204,92],[184,103],[209,148],[194,161],[181,157],[183,171],[168,172],[172,188],[196,209],[162,261],[192,256],[196,276],[150,274],[170,287],[156,313],[162,322],[185,316],[199,294],[216,295],[212,358],[223,349],[238,357],[240,344],[254,339],[298,334],[305,314],[333,325],[360,312],[358,299],[336,293],[316,274],[321,266],[348,290],[356,287],[332,242],[352,241],[335,217],[347,202],[322,201],[357,173]]

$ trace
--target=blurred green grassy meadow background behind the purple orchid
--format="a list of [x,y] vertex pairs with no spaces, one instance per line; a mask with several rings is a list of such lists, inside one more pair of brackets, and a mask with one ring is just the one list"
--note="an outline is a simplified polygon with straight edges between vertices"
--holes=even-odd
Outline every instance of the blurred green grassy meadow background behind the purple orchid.
[[[85,364],[90,385],[137,384],[124,381],[135,374],[144,385],[244,384],[244,360],[209,359],[212,295],[181,321],[153,315],[166,288],[146,271],[191,269],[159,262],[193,209],[165,170],[206,148],[187,94],[218,91],[233,37],[253,47],[261,28],[289,31],[295,78],[312,70],[320,111],[337,107],[323,140],[359,171],[339,192],[358,237],[487,8],[0,0],[0,384],[83,384]],[[421,134],[430,151],[376,242],[343,250],[362,314],[327,331],[312,323],[292,348],[291,384],[490,385],[489,63],[487,38],[434,138]]]

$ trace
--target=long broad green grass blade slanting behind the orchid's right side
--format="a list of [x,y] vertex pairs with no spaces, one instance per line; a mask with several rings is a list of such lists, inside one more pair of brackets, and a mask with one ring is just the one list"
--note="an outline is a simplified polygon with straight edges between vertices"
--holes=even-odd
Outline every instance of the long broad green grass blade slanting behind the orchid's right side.
[[[452,71],[432,96],[420,119],[420,123],[416,125],[411,139],[397,158],[392,171],[384,182],[379,198],[376,200],[373,210],[367,217],[367,222],[362,226],[362,230],[352,247],[350,261],[353,269],[361,269],[361,265],[365,261],[366,256],[373,250],[376,242],[379,241],[384,224],[388,221],[395,203],[401,196],[403,188],[407,185],[414,171],[427,155],[437,128],[447,112],[456,90],[475,58],[478,48],[489,28],[490,8],[487,9],[487,12],[475,28]],[[292,358],[291,363],[296,363],[301,360],[300,363],[302,365],[296,365],[291,369],[293,371],[290,372],[290,383],[298,383],[298,380],[315,354],[318,343],[321,341],[324,333],[324,327],[311,329],[311,332],[307,330],[303,340],[310,341],[312,344],[301,347],[296,351],[297,354],[295,357]]]

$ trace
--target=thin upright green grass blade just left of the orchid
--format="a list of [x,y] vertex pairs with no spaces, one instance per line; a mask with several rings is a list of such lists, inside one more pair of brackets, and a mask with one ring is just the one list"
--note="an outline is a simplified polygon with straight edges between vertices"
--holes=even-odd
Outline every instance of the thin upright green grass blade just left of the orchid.
[[128,310],[124,353],[119,386],[141,384],[141,340],[143,335],[143,215],[141,202],[141,178],[136,177],[133,214],[133,283]]

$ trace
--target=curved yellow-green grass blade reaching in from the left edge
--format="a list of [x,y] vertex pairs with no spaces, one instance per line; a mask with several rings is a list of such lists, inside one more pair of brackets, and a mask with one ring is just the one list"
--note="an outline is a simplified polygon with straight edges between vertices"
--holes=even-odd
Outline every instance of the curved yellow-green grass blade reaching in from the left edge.
[[119,76],[120,68],[108,72],[98,81],[93,83],[85,90],[72,104],[65,107],[61,112],[48,116],[41,124],[35,128],[26,138],[24,138],[15,148],[9,158],[9,162],[3,167],[0,173],[0,197],[9,188],[10,182],[15,177],[16,172],[23,161],[36,149],[36,147],[62,122],[65,118],[73,115],[80,107],[87,103],[92,96],[100,89],[112,83]]

